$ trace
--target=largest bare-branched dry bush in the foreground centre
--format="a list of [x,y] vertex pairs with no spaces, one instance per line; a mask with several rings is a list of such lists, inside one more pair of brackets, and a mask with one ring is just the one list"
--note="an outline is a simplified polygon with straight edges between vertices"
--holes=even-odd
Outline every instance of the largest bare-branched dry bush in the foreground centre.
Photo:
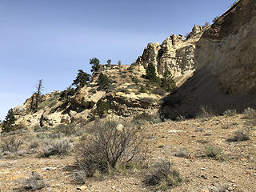
[[127,123],[107,120],[94,124],[94,135],[76,146],[76,166],[87,177],[108,173],[118,162],[130,162],[138,154],[142,134]]

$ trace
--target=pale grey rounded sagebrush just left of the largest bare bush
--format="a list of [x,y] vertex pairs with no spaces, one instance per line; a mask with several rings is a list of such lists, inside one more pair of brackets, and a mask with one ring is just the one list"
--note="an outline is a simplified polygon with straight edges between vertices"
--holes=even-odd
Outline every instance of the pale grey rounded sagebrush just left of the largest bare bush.
[[72,142],[70,139],[60,139],[54,142],[46,141],[42,146],[41,154],[42,158],[48,158],[51,155],[65,155],[70,152],[72,148]]

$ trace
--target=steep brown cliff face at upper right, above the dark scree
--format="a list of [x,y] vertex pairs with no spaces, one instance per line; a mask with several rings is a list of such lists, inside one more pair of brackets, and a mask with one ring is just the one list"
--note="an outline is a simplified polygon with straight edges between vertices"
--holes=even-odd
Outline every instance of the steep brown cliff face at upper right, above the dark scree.
[[243,0],[200,38],[197,69],[208,68],[226,93],[256,92],[256,2]]

